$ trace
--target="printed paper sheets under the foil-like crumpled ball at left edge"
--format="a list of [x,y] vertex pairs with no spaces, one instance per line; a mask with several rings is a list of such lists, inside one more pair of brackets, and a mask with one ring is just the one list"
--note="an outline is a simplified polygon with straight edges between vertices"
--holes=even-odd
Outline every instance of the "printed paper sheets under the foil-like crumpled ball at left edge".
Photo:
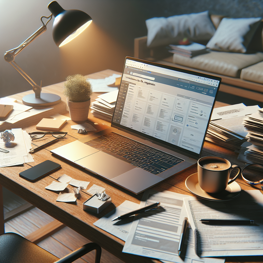
[[21,165],[23,163],[31,163],[34,161],[29,152],[32,149],[31,137],[21,128],[12,129],[14,141],[9,143],[0,142],[0,148],[8,150],[9,153],[0,152],[0,167]]

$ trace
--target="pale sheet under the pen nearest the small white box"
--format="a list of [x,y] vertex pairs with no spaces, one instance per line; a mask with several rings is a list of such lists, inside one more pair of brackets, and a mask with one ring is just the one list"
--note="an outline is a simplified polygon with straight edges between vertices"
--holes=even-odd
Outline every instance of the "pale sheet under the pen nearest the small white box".
[[130,211],[136,210],[138,208],[139,208],[139,204],[126,200],[122,204],[117,206],[115,209],[110,211],[110,213],[103,216],[95,223],[93,223],[93,225],[107,231],[108,233],[114,236],[117,236],[119,239],[123,241],[126,241],[134,217],[131,216],[129,218],[125,218],[113,222],[112,219],[114,219],[117,216],[128,213]]

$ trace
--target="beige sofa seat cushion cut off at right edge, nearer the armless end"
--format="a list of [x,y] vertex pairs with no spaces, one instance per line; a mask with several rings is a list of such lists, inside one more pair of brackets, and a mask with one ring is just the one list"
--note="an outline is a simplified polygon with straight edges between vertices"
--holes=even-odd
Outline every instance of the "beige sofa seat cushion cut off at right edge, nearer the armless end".
[[263,84],[263,61],[250,67],[243,68],[240,78]]

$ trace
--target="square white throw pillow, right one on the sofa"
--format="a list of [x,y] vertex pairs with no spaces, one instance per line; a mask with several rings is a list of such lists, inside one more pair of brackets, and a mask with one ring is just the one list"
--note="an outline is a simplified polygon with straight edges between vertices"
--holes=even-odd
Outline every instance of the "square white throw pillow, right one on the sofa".
[[250,26],[260,19],[261,17],[223,18],[206,47],[218,51],[245,53],[244,36],[249,32]]

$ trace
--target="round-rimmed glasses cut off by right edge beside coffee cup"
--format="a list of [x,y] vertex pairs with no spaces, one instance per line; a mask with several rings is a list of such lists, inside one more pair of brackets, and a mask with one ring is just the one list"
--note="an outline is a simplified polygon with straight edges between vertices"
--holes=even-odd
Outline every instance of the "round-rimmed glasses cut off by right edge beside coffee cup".
[[241,171],[243,180],[250,185],[261,185],[263,190],[263,165],[249,164]]

